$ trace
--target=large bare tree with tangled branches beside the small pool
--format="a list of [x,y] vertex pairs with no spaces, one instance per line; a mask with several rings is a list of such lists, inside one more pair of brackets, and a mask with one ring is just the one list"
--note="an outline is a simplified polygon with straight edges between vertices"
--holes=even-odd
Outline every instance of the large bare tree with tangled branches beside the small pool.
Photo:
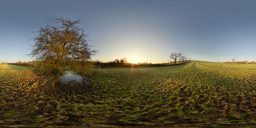
[[35,44],[32,46],[30,56],[41,61],[42,72],[53,72],[57,78],[67,68],[83,76],[92,73],[92,64],[88,62],[91,56],[98,51],[91,50],[88,44],[88,34],[76,26],[80,20],[52,18],[57,26],[47,25],[35,33]]

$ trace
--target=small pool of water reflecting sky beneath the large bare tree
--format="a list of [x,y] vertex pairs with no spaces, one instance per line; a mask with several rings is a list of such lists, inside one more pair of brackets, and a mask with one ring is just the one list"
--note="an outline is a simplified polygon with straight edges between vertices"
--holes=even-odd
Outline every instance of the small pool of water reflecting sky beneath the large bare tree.
[[82,76],[80,75],[74,75],[73,71],[65,71],[64,76],[60,76],[60,82],[70,82],[70,81],[76,81],[76,82],[82,82]]

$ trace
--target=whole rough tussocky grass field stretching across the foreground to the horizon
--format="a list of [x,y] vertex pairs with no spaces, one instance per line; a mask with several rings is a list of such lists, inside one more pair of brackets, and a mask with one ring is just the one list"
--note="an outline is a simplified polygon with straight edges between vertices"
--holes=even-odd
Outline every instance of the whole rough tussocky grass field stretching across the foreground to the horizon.
[[103,68],[89,85],[58,86],[0,69],[0,124],[256,124],[256,64]]

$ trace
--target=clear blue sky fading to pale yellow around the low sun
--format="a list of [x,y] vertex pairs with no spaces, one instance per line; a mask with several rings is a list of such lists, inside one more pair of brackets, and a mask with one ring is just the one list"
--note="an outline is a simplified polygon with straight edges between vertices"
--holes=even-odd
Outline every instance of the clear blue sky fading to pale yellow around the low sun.
[[33,58],[34,33],[49,18],[82,20],[92,60],[163,63],[256,61],[256,0],[0,0],[0,63]]

